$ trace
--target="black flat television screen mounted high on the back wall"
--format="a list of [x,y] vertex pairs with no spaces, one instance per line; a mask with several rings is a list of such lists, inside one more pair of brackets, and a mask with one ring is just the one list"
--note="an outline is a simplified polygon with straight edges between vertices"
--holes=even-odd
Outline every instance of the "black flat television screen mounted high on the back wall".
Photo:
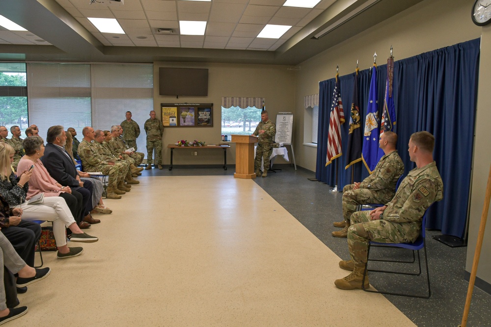
[[161,96],[208,96],[208,69],[159,68]]

